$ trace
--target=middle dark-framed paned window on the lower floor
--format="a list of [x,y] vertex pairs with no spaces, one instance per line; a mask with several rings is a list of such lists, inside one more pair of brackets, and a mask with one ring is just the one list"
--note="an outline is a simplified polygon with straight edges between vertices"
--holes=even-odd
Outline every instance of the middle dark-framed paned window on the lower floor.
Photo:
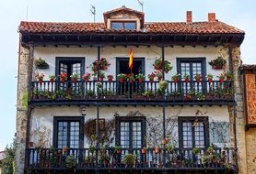
[[116,144],[123,148],[141,148],[145,136],[145,117],[116,117]]

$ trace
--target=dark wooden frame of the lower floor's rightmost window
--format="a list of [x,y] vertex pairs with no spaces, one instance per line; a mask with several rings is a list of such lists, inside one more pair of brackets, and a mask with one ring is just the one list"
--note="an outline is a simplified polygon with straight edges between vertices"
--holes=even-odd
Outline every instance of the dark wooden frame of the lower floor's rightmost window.
[[[209,131],[209,119],[208,116],[178,116],[178,131],[179,131],[179,147],[183,147],[183,131],[182,131],[182,123],[183,122],[194,122],[195,120],[199,120],[199,122],[204,122],[204,147],[210,146],[210,131]],[[192,129],[192,148],[195,147],[195,136],[194,129]]]

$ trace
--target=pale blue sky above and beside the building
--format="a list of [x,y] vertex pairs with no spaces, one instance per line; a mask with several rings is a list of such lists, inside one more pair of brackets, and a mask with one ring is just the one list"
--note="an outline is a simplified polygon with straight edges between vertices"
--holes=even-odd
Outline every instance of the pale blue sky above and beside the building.
[[[244,63],[255,63],[256,1],[255,0],[144,0],[145,21],[185,21],[185,12],[192,10],[193,21],[205,21],[208,12],[217,19],[245,30],[241,46]],[[0,0],[1,63],[0,63],[0,150],[15,134],[17,95],[17,26],[19,21],[92,22],[90,5],[96,5],[96,21],[102,13],[126,5],[140,10],[136,0]]]

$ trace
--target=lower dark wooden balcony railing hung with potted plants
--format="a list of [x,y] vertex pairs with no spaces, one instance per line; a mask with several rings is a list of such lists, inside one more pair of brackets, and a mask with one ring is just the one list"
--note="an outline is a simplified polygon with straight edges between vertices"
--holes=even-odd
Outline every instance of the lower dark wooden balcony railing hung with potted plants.
[[[127,160],[127,154],[130,160]],[[72,157],[70,164],[67,158]],[[126,159],[125,159],[126,158]],[[192,153],[192,148],[161,148],[157,153],[154,148],[142,152],[140,148],[122,148],[117,152],[114,148],[94,149],[27,149],[27,169],[236,169],[234,151],[229,148],[199,148]]]

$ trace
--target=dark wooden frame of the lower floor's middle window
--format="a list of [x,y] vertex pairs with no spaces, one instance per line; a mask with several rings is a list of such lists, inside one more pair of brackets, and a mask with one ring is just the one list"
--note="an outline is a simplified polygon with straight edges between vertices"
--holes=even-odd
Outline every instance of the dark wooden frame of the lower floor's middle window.
[[[121,122],[129,122],[129,125],[131,125],[133,122],[141,122],[141,146],[145,147],[145,142],[144,142],[144,137],[146,136],[146,125],[145,125],[145,116],[117,116],[115,118],[115,127],[116,127],[116,131],[115,131],[115,145],[116,146],[120,146],[121,145],[121,126],[120,123]],[[129,130],[129,135],[131,137],[131,135],[133,133],[133,130]],[[133,147],[133,138],[129,138],[129,147]]]

